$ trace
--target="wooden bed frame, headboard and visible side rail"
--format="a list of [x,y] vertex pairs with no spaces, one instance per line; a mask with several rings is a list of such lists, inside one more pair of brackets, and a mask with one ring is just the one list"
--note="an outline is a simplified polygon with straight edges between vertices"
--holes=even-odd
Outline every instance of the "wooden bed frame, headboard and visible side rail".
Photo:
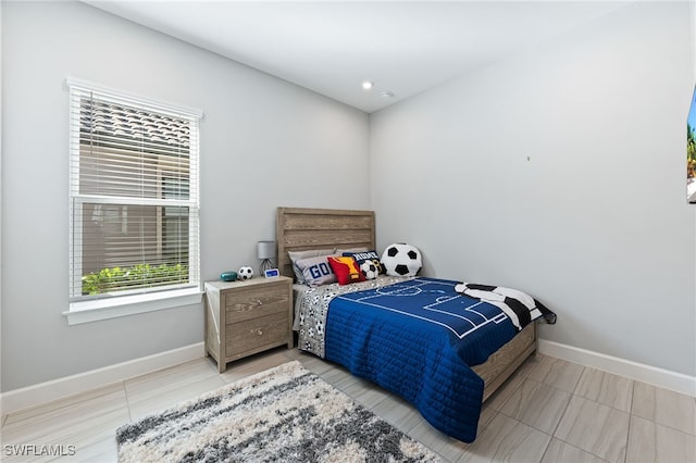
[[[308,249],[376,249],[373,211],[278,208],[276,222],[278,270],[294,277],[288,251]],[[485,401],[536,351],[536,324],[531,323],[485,363],[473,366],[484,380]]]

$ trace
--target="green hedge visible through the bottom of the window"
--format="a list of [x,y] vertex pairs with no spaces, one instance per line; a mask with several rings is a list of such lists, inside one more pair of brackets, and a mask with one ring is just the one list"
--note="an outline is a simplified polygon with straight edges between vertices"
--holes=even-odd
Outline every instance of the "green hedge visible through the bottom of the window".
[[123,291],[188,283],[188,266],[138,264],[128,267],[102,268],[83,276],[83,295]]

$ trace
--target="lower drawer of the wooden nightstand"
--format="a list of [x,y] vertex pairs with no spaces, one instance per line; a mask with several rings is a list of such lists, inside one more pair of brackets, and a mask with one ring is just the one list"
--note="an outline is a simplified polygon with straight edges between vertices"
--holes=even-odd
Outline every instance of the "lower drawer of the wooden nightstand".
[[283,345],[287,342],[288,329],[286,312],[227,325],[226,356]]

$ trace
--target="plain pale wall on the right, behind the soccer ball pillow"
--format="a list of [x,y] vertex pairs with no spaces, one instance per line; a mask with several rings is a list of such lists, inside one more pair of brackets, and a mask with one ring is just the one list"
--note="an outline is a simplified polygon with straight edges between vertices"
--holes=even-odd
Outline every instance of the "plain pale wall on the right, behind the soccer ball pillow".
[[696,375],[686,2],[636,2],[371,116],[381,247],[517,287],[542,337]]

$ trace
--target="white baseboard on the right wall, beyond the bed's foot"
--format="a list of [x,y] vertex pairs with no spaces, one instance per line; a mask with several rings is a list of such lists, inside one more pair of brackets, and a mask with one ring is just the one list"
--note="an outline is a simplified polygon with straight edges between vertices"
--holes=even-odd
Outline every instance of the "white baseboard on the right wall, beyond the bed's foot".
[[539,339],[539,353],[696,397],[696,377]]

